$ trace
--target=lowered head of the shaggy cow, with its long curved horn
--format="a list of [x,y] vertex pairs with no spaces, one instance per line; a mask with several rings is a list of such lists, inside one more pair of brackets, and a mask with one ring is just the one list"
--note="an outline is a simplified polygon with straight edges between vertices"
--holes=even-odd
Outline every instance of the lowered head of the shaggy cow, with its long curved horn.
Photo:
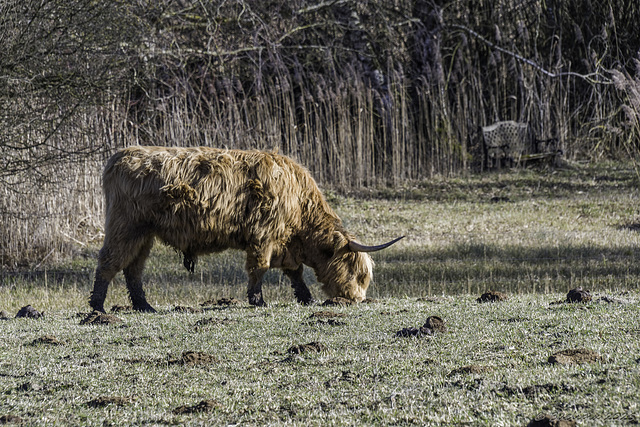
[[373,260],[368,252],[387,248],[402,237],[382,245],[365,246],[341,232],[335,232],[333,248],[325,252],[327,261],[323,277],[319,277],[324,292],[330,298],[342,297],[358,302],[364,300],[373,278]]

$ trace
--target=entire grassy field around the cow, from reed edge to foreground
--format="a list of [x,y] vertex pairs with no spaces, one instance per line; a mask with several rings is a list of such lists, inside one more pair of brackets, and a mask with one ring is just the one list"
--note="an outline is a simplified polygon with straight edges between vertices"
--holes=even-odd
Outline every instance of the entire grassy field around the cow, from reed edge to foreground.
[[[204,257],[190,275],[158,245],[145,278],[159,313],[81,325],[98,248],[46,270],[2,272],[0,309],[11,319],[0,321],[0,417],[28,425],[525,425],[548,413],[580,425],[640,423],[632,167],[327,196],[364,243],[407,236],[374,255],[368,296],[378,302],[301,307],[271,272],[268,308],[177,312],[223,297],[244,301],[243,257]],[[578,286],[594,300],[552,304]],[[510,298],[477,303],[488,289]],[[317,285],[311,290],[324,300]],[[45,317],[13,319],[27,304]],[[121,276],[107,297],[113,304],[127,304]],[[321,311],[336,317],[310,317]],[[396,336],[428,316],[448,331]],[[54,339],[34,343],[43,336]],[[306,352],[291,349],[312,342]],[[576,348],[600,358],[548,362]]]

